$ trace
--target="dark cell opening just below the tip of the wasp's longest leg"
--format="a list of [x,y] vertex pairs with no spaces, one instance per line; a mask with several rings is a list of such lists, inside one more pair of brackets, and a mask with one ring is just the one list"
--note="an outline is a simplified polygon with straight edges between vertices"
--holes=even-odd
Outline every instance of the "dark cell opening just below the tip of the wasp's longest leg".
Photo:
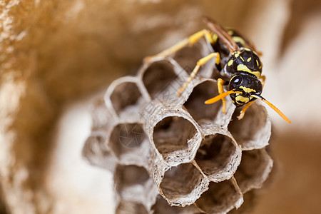
[[[146,90],[150,94],[151,98],[154,99],[161,96],[162,93],[168,93],[170,89],[170,83],[176,78],[173,64],[169,61],[156,61],[143,73],[143,84]],[[178,89],[172,88],[173,91]],[[172,91],[172,92],[173,92]],[[174,92],[174,93],[175,93]]]

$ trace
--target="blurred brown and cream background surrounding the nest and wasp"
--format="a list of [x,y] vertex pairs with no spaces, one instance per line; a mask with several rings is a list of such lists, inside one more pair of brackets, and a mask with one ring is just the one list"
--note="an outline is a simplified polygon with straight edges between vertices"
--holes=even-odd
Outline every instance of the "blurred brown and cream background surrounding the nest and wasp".
[[113,213],[81,158],[93,97],[208,15],[263,52],[276,161],[248,213],[321,212],[321,1],[0,1],[0,213]]

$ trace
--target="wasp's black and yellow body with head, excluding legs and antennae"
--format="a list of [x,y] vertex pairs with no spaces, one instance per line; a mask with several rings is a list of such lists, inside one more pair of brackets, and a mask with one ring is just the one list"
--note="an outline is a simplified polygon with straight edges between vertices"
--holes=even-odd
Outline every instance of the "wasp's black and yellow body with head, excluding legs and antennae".
[[230,94],[235,106],[244,106],[255,98],[252,94],[260,95],[263,90],[260,76],[262,73],[262,63],[258,54],[250,49],[250,44],[235,31],[228,31],[233,41],[240,48],[239,51],[230,53],[227,47],[213,34],[213,50],[220,53],[220,64],[217,65],[218,71],[226,83],[229,90],[235,89],[240,93]]

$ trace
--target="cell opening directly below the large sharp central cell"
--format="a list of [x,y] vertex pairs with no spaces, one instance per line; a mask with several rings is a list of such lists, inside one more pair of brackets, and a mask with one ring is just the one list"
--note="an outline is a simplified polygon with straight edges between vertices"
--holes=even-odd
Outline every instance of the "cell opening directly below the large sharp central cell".
[[183,163],[165,172],[160,188],[168,200],[178,200],[188,198],[203,182],[203,175],[192,163]]

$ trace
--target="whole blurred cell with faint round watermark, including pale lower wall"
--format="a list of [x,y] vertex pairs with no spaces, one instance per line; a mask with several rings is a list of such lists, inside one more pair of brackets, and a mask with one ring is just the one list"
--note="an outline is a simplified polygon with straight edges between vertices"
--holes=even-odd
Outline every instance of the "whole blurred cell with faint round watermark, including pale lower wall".
[[113,127],[108,145],[121,164],[145,165],[151,148],[139,123],[120,123]]

